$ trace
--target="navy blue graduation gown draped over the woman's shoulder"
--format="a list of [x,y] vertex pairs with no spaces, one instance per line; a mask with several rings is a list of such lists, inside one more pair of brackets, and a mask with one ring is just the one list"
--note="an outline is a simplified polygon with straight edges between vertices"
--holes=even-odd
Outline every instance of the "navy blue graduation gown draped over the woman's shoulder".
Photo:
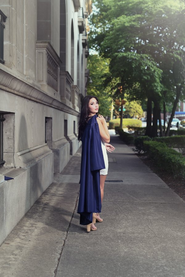
[[78,213],[80,224],[92,222],[92,213],[101,212],[100,170],[105,168],[97,116],[89,119],[82,136],[80,195]]

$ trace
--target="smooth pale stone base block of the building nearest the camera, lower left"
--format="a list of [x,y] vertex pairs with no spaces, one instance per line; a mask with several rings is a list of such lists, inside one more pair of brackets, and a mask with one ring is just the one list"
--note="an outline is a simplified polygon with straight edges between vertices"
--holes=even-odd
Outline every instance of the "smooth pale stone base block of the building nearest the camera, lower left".
[[0,183],[0,245],[53,182],[53,153],[27,169],[1,170],[5,172],[14,179]]

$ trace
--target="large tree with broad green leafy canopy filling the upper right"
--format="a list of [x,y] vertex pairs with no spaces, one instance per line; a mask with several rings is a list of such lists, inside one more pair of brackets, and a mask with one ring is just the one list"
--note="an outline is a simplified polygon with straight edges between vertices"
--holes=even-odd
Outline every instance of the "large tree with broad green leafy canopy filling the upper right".
[[166,101],[173,101],[172,119],[183,96],[183,4],[178,0],[97,0],[95,5],[91,43],[110,59],[112,76],[120,78],[131,94],[135,93],[133,98],[148,99],[146,134],[156,136],[161,107],[165,111]]

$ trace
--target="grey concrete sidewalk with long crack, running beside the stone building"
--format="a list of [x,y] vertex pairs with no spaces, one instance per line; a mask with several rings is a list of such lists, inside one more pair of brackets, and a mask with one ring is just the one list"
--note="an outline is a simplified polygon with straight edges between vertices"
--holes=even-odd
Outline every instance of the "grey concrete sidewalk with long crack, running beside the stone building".
[[1,277],[185,276],[185,202],[119,137],[97,231],[79,225],[80,150],[0,247]]

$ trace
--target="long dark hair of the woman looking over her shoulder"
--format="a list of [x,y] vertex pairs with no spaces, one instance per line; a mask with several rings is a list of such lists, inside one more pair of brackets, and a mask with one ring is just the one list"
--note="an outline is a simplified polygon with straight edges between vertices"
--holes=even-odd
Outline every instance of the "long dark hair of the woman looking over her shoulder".
[[96,96],[91,96],[91,95],[85,96],[82,100],[80,119],[78,122],[78,141],[82,140],[84,129],[88,122],[88,117],[89,117],[88,105],[91,98],[95,98],[98,102],[98,98]]

